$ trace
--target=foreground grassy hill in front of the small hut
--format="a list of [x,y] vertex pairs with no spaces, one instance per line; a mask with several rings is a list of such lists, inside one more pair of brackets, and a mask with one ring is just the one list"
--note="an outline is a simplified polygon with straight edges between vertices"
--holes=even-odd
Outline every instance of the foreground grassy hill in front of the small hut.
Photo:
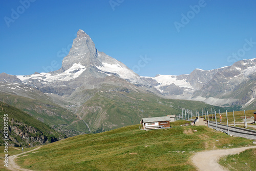
[[133,125],[70,137],[17,162],[33,170],[195,170],[189,160],[195,152],[252,145],[204,126],[175,126],[184,122],[170,129],[144,131]]

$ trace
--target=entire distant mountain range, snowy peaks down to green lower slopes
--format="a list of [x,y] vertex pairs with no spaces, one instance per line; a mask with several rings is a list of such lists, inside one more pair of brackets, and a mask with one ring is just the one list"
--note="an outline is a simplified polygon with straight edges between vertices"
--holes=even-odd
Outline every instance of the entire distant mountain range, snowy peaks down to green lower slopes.
[[190,75],[140,77],[99,52],[90,36],[79,30],[59,70],[28,76],[0,74],[0,101],[67,136],[102,132],[138,124],[141,117],[180,114],[185,108],[253,108],[255,62],[195,69]]

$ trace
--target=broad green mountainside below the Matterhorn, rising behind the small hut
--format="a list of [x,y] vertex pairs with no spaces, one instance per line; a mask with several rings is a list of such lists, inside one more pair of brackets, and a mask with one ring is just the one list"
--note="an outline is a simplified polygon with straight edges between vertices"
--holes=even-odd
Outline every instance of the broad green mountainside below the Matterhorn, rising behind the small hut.
[[[201,108],[225,111],[203,102],[163,99],[151,92],[136,92],[125,87],[104,85],[101,89],[90,90],[90,93],[93,93],[92,97],[82,104],[77,115],[94,133],[136,125],[143,117],[179,115],[182,108],[193,110],[194,114]],[[89,94],[88,90],[84,94]]]

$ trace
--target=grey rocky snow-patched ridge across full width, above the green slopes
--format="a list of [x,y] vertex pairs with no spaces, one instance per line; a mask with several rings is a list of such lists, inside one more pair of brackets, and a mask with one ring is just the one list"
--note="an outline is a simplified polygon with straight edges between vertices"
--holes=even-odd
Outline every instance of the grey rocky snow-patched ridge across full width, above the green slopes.
[[[237,90],[242,82],[250,79],[251,76],[249,75],[255,73],[256,70],[254,68],[255,59],[241,60],[230,66],[211,70],[196,68],[190,74],[179,76],[141,77],[122,62],[98,51],[90,36],[86,32],[78,30],[70,52],[63,58],[59,70],[48,73],[36,72],[29,76],[0,74],[0,80],[15,83],[23,82],[44,89],[44,92],[48,92],[46,88],[43,88],[46,86],[51,87],[48,89],[65,86],[68,92],[72,93],[80,86],[93,88],[94,83],[91,78],[105,78],[113,75],[170,99],[197,100],[218,106],[240,105],[246,107],[251,104],[248,102],[253,102],[253,98],[255,98],[253,86],[250,87],[252,92],[244,92],[245,94],[240,95],[241,97],[226,98],[227,95],[223,91],[232,93],[233,90]],[[218,84],[224,82],[226,84],[225,88],[220,88]],[[229,83],[232,85],[229,85]],[[212,84],[215,84],[215,86],[212,87]],[[241,85],[240,89],[244,91]],[[59,90],[51,90],[50,92],[59,92]],[[60,92],[58,94],[65,93]],[[248,95],[250,99],[248,99]],[[225,101],[226,103],[224,103]]]

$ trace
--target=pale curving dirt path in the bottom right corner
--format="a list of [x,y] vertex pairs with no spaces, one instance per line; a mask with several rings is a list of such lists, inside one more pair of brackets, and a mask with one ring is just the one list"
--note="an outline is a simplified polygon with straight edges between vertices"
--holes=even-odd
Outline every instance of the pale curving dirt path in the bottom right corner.
[[227,169],[222,167],[218,161],[221,157],[226,155],[233,155],[243,152],[247,149],[256,148],[256,146],[247,146],[235,149],[225,149],[225,150],[211,150],[196,153],[192,156],[191,160],[197,166],[198,170],[202,171],[226,171]]

